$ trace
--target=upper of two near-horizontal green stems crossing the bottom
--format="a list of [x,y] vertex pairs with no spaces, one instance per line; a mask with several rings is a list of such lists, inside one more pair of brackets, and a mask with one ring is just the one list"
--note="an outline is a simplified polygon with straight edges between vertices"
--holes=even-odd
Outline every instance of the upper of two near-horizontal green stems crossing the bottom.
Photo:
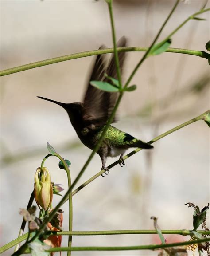
[[[197,230],[198,233],[202,235],[210,235],[210,231]],[[101,230],[101,231],[62,231],[62,232],[51,232],[49,235],[61,235],[61,236],[103,236],[103,235],[137,235],[137,234],[156,234],[156,230],[143,229],[143,230]],[[191,231],[187,229],[181,230],[162,230],[163,234],[170,235],[182,235],[182,236],[190,236]],[[16,244],[19,244],[27,239],[27,234],[12,240],[8,244],[5,244],[0,248],[0,254],[12,248]]]

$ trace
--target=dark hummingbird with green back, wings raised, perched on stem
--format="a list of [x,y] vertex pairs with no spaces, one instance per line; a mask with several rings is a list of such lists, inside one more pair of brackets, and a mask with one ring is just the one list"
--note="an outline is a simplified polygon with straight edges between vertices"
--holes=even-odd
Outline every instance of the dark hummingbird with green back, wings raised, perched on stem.
[[[122,37],[118,41],[117,47],[124,46],[126,46],[126,39],[125,37]],[[99,49],[102,47],[103,46],[101,46]],[[122,72],[125,52],[119,52],[118,58],[120,70]],[[105,74],[107,75],[105,76]],[[103,129],[105,128],[107,120],[109,119],[115,106],[118,92],[102,91],[96,87],[93,87],[90,84],[90,81],[94,80],[108,82],[108,76],[117,79],[114,55],[112,54],[109,62],[106,62],[103,55],[97,55],[82,103],[62,103],[38,96],[38,98],[62,106],[67,111],[70,122],[74,127],[79,139],[91,150],[93,150],[93,148],[96,146],[101,134],[103,133]],[[114,117],[113,122],[116,122],[116,117]],[[105,174],[109,173],[109,169],[105,167],[107,157],[120,156],[119,164],[122,167],[124,165],[123,155],[125,151],[128,148],[133,147],[139,147],[142,149],[153,148],[152,145],[134,138],[130,134],[110,125],[99,149],[97,150],[97,154],[99,154],[102,162],[101,170],[104,169]]]

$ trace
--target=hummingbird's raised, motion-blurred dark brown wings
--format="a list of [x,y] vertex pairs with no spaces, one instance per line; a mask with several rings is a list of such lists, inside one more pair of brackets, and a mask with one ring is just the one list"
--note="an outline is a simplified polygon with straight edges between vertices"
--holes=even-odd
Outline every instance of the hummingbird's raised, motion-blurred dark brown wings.
[[[117,47],[124,47],[126,45],[125,38],[121,38],[117,43]],[[101,47],[100,47],[101,48]],[[120,69],[122,71],[125,52],[118,53]],[[105,61],[103,55],[98,55],[95,65],[93,67],[93,72],[89,81],[107,81],[110,80],[104,77],[104,73],[117,79],[117,70],[115,67],[114,55],[112,54],[111,60],[107,69],[105,69]],[[114,105],[117,100],[117,93],[109,93],[101,91],[92,85],[88,85],[86,95],[84,98],[84,107],[83,107],[83,120],[86,122],[87,126],[93,124],[94,126],[105,125],[108,118],[110,117]],[[116,119],[114,118],[113,122]]]

